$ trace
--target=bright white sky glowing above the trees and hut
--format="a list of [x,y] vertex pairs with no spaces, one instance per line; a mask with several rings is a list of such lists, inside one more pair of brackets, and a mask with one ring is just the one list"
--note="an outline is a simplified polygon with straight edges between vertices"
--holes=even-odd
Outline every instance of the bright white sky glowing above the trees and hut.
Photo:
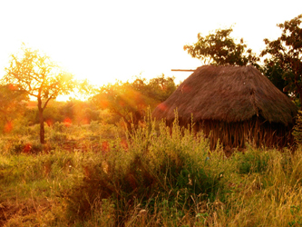
[[183,50],[199,33],[233,25],[231,36],[259,53],[300,14],[301,0],[0,0],[0,77],[24,43],[95,85],[161,74],[180,82],[190,73],[170,70],[201,65]]

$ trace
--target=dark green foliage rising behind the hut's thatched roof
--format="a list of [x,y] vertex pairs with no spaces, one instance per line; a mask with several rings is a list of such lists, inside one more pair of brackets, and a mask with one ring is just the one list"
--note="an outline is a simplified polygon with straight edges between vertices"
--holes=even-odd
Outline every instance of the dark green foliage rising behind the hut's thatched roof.
[[[284,24],[279,24],[282,34],[274,41],[264,39],[267,47],[259,56],[253,54],[251,49],[247,50],[247,44],[244,44],[243,39],[240,39],[238,44],[229,36],[232,28],[217,29],[205,36],[199,34],[195,44],[187,44],[183,48],[192,57],[200,59],[203,64],[253,64],[281,92],[290,96],[297,104],[302,104],[301,18],[302,15],[298,15]],[[268,58],[261,64],[259,57],[266,54]]]

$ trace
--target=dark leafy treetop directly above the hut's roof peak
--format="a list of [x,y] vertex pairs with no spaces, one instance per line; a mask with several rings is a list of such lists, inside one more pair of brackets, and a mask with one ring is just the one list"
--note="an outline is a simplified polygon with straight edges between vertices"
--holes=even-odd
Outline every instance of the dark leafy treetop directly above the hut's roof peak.
[[233,31],[229,29],[217,29],[214,34],[202,36],[198,34],[195,44],[184,45],[183,49],[192,57],[200,59],[203,64],[217,65],[247,65],[253,64],[258,67],[258,56],[251,49],[246,50],[247,44],[243,39],[236,44],[230,37]]

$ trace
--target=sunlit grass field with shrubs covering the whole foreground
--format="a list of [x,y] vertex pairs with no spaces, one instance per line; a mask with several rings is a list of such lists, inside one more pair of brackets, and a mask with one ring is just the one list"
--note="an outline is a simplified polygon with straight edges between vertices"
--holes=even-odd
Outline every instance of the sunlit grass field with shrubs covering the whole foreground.
[[0,226],[300,226],[302,153],[226,158],[174,123],[15,128],[0,139]]

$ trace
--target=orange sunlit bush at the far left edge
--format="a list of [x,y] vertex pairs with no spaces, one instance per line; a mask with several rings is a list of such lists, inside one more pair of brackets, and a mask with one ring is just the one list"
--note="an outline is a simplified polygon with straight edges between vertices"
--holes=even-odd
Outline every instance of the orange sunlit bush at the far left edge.
[[0,119],[8,124],[25,110],[27,95],[12,84],[0,84]]

